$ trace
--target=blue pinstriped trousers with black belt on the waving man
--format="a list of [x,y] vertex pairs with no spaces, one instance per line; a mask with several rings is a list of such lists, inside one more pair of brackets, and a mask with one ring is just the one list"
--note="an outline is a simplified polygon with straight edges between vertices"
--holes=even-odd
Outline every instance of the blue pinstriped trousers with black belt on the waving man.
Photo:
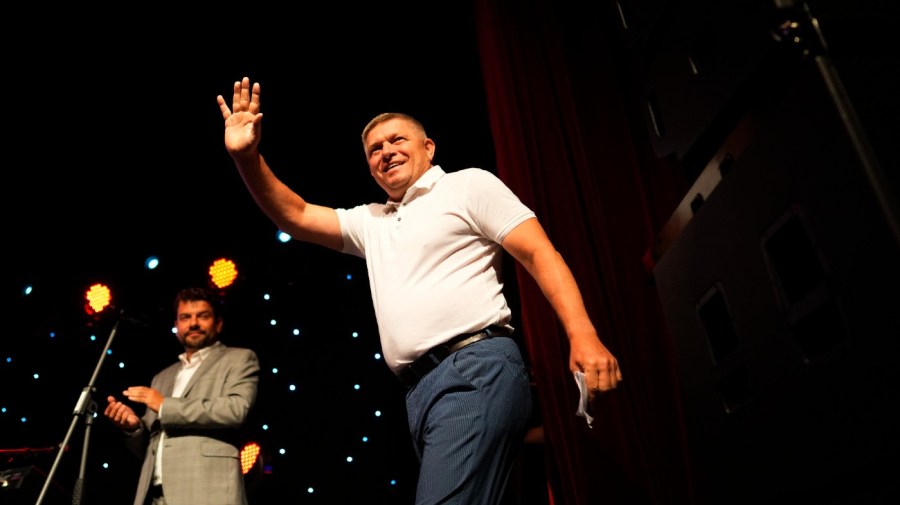
[[516,342],[495,337],[450,355],[406,394],[419,458],[416,505],[496,505],[531,414]]

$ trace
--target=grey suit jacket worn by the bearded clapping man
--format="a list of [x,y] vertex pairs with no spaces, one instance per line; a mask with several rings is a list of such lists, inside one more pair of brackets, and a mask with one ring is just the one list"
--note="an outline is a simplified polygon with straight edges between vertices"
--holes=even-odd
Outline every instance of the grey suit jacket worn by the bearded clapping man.
[[160,430],[163,494],[168,505],[246,505],[240,462],[240,428],[259,384],[259,360],[250,349],[214,347],[179,398],[171,397],[180,363],[153,377],[150,386],[166,399],[162,417],[147,409],[141,428],[126,438],[143,458],[134,505],[142,505],[153,478]]

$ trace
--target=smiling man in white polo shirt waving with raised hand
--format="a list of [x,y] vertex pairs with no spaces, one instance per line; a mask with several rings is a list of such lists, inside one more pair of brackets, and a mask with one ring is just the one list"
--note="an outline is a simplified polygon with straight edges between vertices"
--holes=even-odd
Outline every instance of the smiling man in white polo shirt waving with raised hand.
[[[416,504],[500,503],[532,407],[527,370],[509,338],[504,251],[543,290],[569,338],[573,372],[584,373],[590,394],[622,380],[568,266],[500,179],[435,165],[434,141],[406,114],[378,115],[362,132],[369,174],[387,193],[385,203],[333,209],[307,202],[259,152],[259,97],[259,83],[251,86],[247,77],[234,83],[230,107],[217,97],[225,147],[280,230],[365,259],[385,359],[409,388],[420,461]],[[312,128],[300,142],[314,145],[328,134]]]

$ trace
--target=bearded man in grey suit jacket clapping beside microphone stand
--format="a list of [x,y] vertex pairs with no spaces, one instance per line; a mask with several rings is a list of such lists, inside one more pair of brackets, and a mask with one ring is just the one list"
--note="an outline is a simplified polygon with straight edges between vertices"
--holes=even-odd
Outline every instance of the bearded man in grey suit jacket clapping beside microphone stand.
[[175,330],[184,352],[150,387],[123,391],[143,417],[109,396],[104,415],[123,430],[144,462],[134,505],[246,505],[239,429],[256,401],[259,360],[219,341],[216,294],[186,288],[175,297]]

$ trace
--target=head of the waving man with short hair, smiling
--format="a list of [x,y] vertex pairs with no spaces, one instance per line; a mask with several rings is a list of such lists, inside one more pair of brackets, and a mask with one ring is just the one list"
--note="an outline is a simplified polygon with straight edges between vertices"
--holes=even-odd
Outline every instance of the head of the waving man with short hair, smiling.
[[369,173],[395,202],[431,168],[434,141],[415,120],[392,117],[367,129],[363,144]]

